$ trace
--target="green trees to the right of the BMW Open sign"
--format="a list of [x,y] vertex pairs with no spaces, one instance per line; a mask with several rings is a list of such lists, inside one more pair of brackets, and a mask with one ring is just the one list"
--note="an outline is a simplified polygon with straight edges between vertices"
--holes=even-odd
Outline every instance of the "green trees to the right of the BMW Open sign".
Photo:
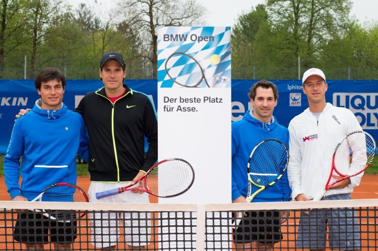
[[[377,78],[378,24],[362,27],[350,18],[350,8],[349,0],[268,0],[240,15],[233,27],[233,76],[255,66],[244,77],[297,78],[300,57],[301,73],[322,67],[331,78]],[[263,21],[243,26],[261,10]],[[240,27],[251,36],[248,43]],[[238,50],[242,43],[244,53]]]

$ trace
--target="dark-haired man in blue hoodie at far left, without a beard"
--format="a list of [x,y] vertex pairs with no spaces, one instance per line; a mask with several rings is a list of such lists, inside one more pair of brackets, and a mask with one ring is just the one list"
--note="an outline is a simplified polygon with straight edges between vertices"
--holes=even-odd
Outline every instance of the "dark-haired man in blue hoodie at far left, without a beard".
[[[76,184],[76,154],[88,161],[84,120],[62,103],[65,76],[57,69],[44,68],[35,78],[35,87],[40,99],[16,120],[4,157],[5,182],[13,201],[31,201],[55,183]],[[72,249],[75,223],[42,221],[41,217],[19,212],[14,239],[26,243],[28,250],[40,250],[50,236],[54,249]]]

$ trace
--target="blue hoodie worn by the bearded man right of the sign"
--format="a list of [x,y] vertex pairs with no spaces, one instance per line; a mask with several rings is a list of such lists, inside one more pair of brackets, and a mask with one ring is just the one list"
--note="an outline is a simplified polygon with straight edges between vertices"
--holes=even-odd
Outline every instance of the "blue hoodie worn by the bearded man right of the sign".
[[[273,117],[271,123],[261,122],[255,119],[247,111],[239,121],[232,122],[232,200],[240,196],[246,197],[248,190],[247,162],[250,152],[254,147],[268,138],[280,140],[289,148],[289,131],[278,124]],[[258,188],[251,186],[252,192]],[[254,199],[253,202],[276,202],[290,201],[291,189],[286,172],[281,179],[271,187],[264,189]]]

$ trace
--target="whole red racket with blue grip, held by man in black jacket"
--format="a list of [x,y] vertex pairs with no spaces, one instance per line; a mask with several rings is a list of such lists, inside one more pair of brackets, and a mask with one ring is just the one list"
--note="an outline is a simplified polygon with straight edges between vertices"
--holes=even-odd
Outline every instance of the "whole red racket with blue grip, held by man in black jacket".
[[[143,180],[144,189],[133,188]],[[180,158],[170,158],[154,164],[136,184],[96,193],[96,198],[120,194],[124,191],[143,191],[157,197],[168,198],[185,193],[194,182],[194,169]]]

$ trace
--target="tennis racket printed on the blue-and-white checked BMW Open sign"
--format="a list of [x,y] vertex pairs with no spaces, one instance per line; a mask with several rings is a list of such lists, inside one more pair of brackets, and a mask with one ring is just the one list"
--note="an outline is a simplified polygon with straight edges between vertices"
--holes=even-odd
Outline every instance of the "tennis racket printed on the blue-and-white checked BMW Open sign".
[[198,87],[202,80],[210,87],[200,63],[192,56],[175,52],[165,61],[165,71],[170,79],[183,87]]

